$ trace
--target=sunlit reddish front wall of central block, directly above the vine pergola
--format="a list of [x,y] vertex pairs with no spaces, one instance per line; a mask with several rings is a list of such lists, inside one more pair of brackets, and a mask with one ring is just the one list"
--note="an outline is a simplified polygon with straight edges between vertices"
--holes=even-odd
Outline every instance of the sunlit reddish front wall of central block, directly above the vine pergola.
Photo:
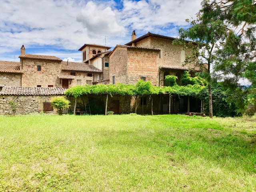
[[146,81],[158,85],[159,51],[130,49],[127,50],[127,84],[135,84],[141,76],[146,76]]

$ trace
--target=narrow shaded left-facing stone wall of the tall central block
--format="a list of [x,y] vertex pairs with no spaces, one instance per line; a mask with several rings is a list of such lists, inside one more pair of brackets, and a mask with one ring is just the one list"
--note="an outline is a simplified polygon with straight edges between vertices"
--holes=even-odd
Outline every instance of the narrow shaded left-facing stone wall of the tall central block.
[[110,84],[113,83],[113,75],[115,76],[115,83],[120,82],[126,84],[127,48],[117,47],[116,50],[110,55],[109,62]]

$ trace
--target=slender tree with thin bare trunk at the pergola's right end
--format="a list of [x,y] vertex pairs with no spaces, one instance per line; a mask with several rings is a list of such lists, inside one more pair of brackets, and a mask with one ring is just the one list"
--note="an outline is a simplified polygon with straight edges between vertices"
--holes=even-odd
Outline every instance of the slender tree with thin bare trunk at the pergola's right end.
[[[208,82],[209,94],[209,116],[212,118],[212,71],[211,68],[217,62],[217,50],[220,48],[220,41],[228,36],[228,28],[217,12],[204,9],[208,1],[202,2],[202,9],[196,15],[196,19],[186,20],[190,28],[179,30],[180,38],[174,44],[182,45],[182,50],[190,52],[186,54],[184,64],[194,64],[200,67],[202,76]],[[187,40],[192,40],[188,42]]]

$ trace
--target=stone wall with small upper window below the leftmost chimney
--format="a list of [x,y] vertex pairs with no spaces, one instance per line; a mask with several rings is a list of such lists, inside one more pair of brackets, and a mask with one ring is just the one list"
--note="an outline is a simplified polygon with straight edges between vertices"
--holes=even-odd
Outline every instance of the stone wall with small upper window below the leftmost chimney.
[[[48,61],[38,59],[20,58],[22,72],[22,86],[23,87],[62,87],[57,74],[61,74],[61,62]],[[41,66],[41,71],[37,70],[37,65]]]

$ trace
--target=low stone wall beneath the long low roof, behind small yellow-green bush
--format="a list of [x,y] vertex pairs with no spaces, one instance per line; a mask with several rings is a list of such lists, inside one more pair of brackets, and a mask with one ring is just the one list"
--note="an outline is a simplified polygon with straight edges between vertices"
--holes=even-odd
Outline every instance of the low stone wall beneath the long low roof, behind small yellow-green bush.
[[[0,114],[12,114],[12,110],[10,108],[10,105],[8,104],[9,100],[13,100],[18,104],[16,114],[38,114],[43,111],[44,102],[50,102],[50,99],[53,96],[0,95]],[[54,110],[54,112],[47,113],[56,114],[56,110]]]

